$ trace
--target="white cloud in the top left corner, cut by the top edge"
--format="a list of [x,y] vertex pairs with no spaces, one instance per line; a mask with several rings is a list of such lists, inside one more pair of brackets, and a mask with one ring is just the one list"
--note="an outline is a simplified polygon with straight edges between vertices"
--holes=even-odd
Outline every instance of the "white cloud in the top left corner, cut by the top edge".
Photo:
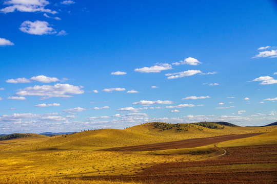
[[8,7],[1,9],[0,11],[3,13],[10,13],[14,11],[20,12],[47,12],[55,14],[56,11],[52,11],[50,9],[45,9],[46,5],[50,3],[46,0],[10,0],[5,1],[4,5],[8,5]]

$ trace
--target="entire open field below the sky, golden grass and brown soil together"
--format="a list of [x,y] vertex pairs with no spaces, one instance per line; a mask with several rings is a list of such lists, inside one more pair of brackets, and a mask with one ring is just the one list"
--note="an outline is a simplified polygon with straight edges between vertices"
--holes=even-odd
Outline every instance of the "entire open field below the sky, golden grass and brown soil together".
[[277,126],[162,128],[147,123],[0,141],[0,183],[276,181]]

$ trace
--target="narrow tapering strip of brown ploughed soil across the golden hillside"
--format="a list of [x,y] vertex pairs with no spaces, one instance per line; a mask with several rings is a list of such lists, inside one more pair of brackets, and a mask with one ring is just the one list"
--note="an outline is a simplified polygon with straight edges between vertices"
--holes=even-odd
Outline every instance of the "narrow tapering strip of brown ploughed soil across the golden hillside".
[[195,147],[215,144],[215,143],[229,141],[229,140],[242,139],[242,138],[260,135],[260,134],[263,134],[263,133],[221,135],[221,136],[214,136],[214,137],[173,141],[173,142],[167,142],[167,143],[109,148],[104,150],[106,151],[153,151],[153,150],[166,150],[166,149],[176,149],[176,148],[195,148]]

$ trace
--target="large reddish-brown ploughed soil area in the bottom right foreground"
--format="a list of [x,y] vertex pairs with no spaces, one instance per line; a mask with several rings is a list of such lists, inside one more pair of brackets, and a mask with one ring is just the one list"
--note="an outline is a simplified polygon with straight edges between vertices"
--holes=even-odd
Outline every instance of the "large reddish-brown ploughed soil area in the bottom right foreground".
[[156,164],[134,175],[83,179],[142,183],[277,183],[277,144],[226,148],[210,160]]

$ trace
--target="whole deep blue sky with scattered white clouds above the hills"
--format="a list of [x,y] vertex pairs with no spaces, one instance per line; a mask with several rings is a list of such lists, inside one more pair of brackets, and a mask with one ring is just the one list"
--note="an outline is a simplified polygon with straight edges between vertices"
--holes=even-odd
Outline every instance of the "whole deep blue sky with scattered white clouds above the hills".
[[0,134],[277,121],[274,1],[0,1]]

